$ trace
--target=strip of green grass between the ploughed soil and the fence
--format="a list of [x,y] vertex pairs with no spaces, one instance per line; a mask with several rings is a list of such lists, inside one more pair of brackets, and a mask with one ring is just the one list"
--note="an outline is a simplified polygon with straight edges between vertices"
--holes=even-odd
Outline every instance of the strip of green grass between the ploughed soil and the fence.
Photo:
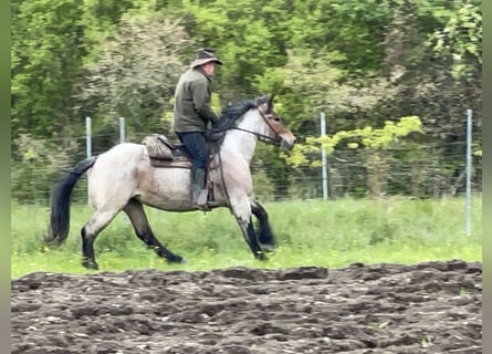
[[[95,242],[100,271],[126,269],[210,270],[232,266],[339,268],[353,262],[411,264],[428,260],[482,260],[482,199],[472,199],[472,235],[465,235],[463,198],[439,200],[283,201],[265,202],[278,239],[268,262],[251,256],[228,209],[170,214],[147,209],[156,237],[187,259],[167,264],[147,249],[119,215]],[[59,249],[42,247],[46,207],[11,208],[11,277],[35,271],[87,273],[81,260],[80,229],[92,209],[72,206],[71,231]]]

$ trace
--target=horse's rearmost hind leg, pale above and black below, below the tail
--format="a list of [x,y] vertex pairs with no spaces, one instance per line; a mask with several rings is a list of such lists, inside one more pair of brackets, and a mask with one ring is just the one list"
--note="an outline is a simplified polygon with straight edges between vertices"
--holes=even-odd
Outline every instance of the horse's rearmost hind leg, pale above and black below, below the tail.
[[96,210],[91,220],[82,228],[82,266],[88,269],[98,269],[95,256],[94,256],[94,241],[101,231],[109,225],[109,222],[116,217],[119,209],[111,210]]

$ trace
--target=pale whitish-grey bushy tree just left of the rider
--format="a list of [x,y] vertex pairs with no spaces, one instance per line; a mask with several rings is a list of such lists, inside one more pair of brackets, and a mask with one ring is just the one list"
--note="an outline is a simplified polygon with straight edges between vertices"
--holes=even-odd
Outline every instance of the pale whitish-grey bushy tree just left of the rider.
[[167,113],[172,111],[169,97],[185,69],[179,53],[190,43],[176,20],[148,14],[124,17],[88,66],[78,95],[84,107],[93,111],[95,134],[113,132],[118,136],[121,116],[126,118],[129,139],[135,132],[167,133]]

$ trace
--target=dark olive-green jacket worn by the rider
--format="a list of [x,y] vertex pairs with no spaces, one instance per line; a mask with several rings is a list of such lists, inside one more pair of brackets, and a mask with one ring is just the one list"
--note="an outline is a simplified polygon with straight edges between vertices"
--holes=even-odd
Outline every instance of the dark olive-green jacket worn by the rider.
[[200,67],[189,69],[178,81],[175,92],[174,129],[176,133],[206,132],[219,117],[210,106],[211,77]]

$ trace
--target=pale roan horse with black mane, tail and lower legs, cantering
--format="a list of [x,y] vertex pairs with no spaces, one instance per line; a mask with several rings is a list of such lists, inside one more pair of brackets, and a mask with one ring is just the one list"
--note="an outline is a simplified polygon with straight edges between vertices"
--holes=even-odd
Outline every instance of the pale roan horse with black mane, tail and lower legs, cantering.
[[[258,140],[291,149],[295,137],[273,111],[269,100],[239,101],[226,107],[211,129],[212,158],[209,180],[214,199],[234,215],[242,235],[257,259],[265,260],[265,251],[275,241],[264,208],[252,199],[250,162]],[[70,229],[70,196],[87,171],[88,196],[95,212],[82,228],[82,264],[98,269],[94,256],[97,235],[123,210],[133,223],[136,236],[168,262],[182,262],[154,236],[143,205],[166,211],[196,211],[191,206],[190,169],[181,165],[154,167],[143,144],[122,143],[96,157],[88,157],[63,177],[52,191],[50,230],[45,241],[63,242]],[[252,223],[259,221],[259,232]]]

